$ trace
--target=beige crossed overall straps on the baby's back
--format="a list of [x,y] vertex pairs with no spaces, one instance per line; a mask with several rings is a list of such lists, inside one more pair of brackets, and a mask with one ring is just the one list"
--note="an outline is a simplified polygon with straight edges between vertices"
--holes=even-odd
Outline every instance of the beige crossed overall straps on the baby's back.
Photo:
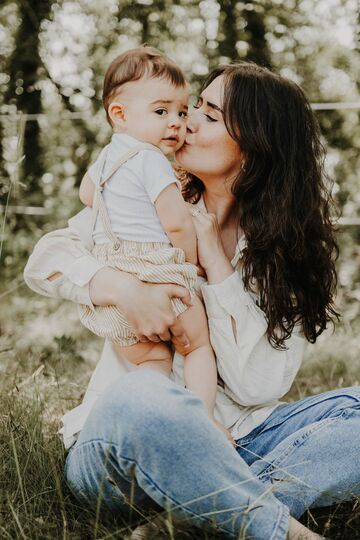
[[106,182],[108,180],[110,180],[110,178],[113,176],[113,174],[116,173],[116,171],[122,165],[124,165],[124,163],[126,163],[132,157],[136,156],[136,154],[138,154],[142,150],[152,150],[152,151],[161,153],[161,150],[159,150],[158,148],[156,148],[156,146],[153,146],[152,144],[139,143],[136,146],[133,146],[132,148],[129,148],[129,150],[127,152],[125,152],[114,163],[114,165],[111,167],[108,174],[106,176],[104,176],[104,177],[103,177],[103,171],[104,171],[104,166],[105,166],[105,161],[106,161],[106,153],[104,152],[104,155],[103,155],[103,161],[102,161],[101,166],[100,166],[100,175],[97,178],[96,186],[95,186],[95,194],[94,194],[94,201],[93,201],[93,221],[92,221],[92,229],[91,230],[92,231],[94,230],[95,222],[96,222],[97,216],[99,215],[106,236],[108,237],[110,242],[114,242],[115,244],[118,244],[118,238],[115,236],[115,234],[113,233],[113,230],[111,228],[109,214],[108,214],[108,212],[106,210],[105,202],[104,202],[103,196],[101,195],[101,192],[104,189],[104,185],[106,184]]

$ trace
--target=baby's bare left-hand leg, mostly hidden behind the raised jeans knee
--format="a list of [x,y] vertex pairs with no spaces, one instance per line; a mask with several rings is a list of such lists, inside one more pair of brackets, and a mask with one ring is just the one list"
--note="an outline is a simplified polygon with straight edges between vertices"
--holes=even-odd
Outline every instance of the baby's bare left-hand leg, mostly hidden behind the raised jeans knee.
[[139,369],[155,369],[169,377],[172,367],[172,354],[164,342],[136,343],[130,347],[113,344],[119,356],[125,358]]

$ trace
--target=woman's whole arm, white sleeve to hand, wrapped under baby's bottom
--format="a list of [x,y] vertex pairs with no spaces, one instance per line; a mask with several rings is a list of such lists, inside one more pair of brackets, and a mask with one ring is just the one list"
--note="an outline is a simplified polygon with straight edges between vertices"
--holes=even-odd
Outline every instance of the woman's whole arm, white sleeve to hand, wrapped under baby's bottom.
[[36,244],[24,270],[28,286],[39,294],[93,307],[121,305],[141,341],[169,340],[184,346],[188,338],[171,306],[178,297],[191,305],[184,287],[152,285],[99,263],[74,228],[46,234]]

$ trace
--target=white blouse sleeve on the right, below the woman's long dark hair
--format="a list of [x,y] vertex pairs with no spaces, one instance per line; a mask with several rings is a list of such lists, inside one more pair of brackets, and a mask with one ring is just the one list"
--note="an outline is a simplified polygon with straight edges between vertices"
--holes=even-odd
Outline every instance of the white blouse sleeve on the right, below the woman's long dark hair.
[[305,339],[294,331],[287,350],[274,349],[266,336],[264,313],[245,290],[240,271],[223,282],[202,286],[211,343],[225,391],[244,406],[281,398],[302,361]]

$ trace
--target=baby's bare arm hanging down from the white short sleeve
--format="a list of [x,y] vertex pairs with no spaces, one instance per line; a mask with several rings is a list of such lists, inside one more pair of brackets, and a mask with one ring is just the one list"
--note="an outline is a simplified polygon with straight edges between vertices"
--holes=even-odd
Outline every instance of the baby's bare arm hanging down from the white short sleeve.
[[187,262],[197,264],[195,228],[176,184],[170,184],[155,201],[156,212],[173,246],[185,252]]

